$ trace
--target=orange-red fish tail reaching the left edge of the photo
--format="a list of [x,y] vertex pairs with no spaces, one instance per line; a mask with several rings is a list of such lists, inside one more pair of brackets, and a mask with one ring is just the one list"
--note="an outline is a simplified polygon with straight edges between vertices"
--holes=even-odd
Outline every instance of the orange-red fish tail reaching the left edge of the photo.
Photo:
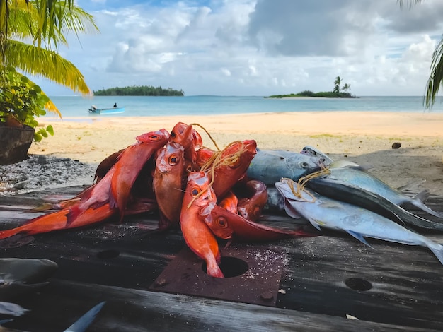
[[1,230],[0,239],[6,239],[16,234],[33,235],[38,233],[50,232],[52,230],[62,230],[67,227],[69,220],[70,209],[66,208],[61,211],[50,213],[47,215],[40,215],[11,230]]

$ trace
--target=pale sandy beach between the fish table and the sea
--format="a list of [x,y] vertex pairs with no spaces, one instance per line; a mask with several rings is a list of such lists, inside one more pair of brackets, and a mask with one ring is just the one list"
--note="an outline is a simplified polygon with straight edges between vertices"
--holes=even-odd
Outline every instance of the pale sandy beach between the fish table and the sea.
[[[315,146],[333,160],[372,167],[372,174],[391,186],[424,183],[443,196],[443,114],[394,112],[291,112],[180,117],[83,117],[44,119],[54,136],[33,143],[29,152],[97,164],[134,143],[147,131],[171,131],[182,121],[200,124],[224,148],[231,141],[255,139],[261,149],[299,152]],[[205,146],[214,144],[199,126]],[[394,142],[401,148],[393,149]]]

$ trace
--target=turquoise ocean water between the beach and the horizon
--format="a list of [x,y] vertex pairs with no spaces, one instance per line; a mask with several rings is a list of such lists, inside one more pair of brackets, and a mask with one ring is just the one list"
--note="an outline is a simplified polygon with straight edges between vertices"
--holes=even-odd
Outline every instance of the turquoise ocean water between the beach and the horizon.
[[[153,117],[167,115],[209,115],[269,112],[317,112],[317,111],[357,111],[357,112],[432,112],[442,113],[442,98],[435,102],[431,111],[422,105],[423,97],[358,97],[350,99],[268,99],[263,97],[138,97],[138,96],[98,96],[98,97],[51,97],[63,117]],[[123,114],[88,114],[88,108],[112,107],[117,102],[125,107]],[[46,117],[54,117],[47,114]]]

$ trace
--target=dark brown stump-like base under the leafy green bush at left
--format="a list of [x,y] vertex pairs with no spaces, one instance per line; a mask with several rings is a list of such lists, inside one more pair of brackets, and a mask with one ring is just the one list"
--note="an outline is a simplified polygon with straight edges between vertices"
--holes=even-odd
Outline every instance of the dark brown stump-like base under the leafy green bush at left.
[[28,158],[35,129],[0,126],[0,165],[10,165]]

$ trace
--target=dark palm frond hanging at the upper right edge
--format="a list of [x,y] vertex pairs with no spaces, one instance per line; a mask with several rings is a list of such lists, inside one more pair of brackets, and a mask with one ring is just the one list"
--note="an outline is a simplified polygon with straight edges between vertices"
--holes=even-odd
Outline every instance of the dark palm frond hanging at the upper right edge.
[[[421,0],[397,0],[400,6],[406,2],[409,7],[413,7],[416,4],[420,4]],[[432,108],[435,103],[435,97],[442,87],[443,83],[443,39],[440,40],[437,47],[435,47],[432,54],[432,61],[430,66],[430,76],[426,83],[426,93],[423,100],[426,108]]]

